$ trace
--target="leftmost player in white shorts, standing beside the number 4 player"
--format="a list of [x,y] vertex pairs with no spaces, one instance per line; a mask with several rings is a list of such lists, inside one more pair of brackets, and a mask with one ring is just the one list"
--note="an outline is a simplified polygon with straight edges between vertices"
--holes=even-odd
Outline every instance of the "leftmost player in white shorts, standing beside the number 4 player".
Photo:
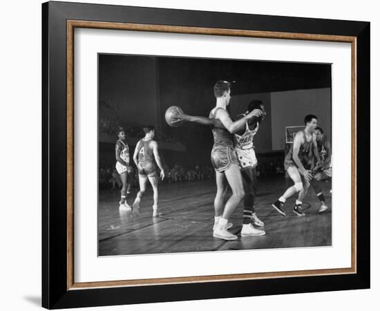
[[124,129],[120,128],[117,133],[119,138],[115,144],[116,171],[122,180],[121,198],[119,202],[120,211],[130,211],[131,207],[126,202],[127,189],[129,187],[129,174],[133,169],[129,165],[129,146],[125,141]]

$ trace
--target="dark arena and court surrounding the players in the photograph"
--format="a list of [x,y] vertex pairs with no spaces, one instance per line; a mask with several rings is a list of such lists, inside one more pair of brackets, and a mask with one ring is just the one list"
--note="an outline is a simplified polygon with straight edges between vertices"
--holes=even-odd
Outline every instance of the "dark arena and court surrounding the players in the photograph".
[[[321,204],[311,187],[303,202],[305,217],[292,213],[296,195],[285,203],[285,217],[271,205],[293,185],[283,168],[285,128],[303,126],[305,115],[313,114],[331,142],[331,70],[330,64],[99,54],[99,256],[330,246],[331,180],[319,182],[329,207],[323,213],[318,212]],[[254,99],[261,100],[267,111],[254,138],[255,209],[266,234],[239,236],[237,241],[213,238],[216,183],[210,127],[190,122],[171,127],[164,119],[170,106],[179,106],[189,115],[208,116],[216,104],[213,85],[221,79],[231,82],[231,117],[245,112]],[[155,218],[149,183],[140,216],[119,211],[121,181],[115,172],[119,126],[126,131],[135,169],[133,151],[147,124],[155,126],[154,139],[166,174],[158,187],[162,215]],[[136,169],[133,176],[129,205],[139,191]],[[234,226],[229,231],[239,234],[243,202],[230,220]]]

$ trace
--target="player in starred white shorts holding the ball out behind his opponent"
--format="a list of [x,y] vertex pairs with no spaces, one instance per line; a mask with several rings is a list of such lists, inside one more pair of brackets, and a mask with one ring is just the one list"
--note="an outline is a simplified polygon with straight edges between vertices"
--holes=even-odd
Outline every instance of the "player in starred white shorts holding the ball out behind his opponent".
[[[240,172],[243,177],[243,188],[244,188],[244,209],[243,209],[243,225],[250,225],[253,223],[259,227],[264,225],[263,221],[261,221],[254,211],[254,198],[256,196],[256,188],[257,188],[257,175],[256,175],[256,166],[257,159],[256,153],[254,151],[254,135],[256,135],[258,131],[258,127],[260,122],[265,119],[264,104],[260,100],[252,100],[248,107],[247,112],[241,115],[238,115],[237,119],[246,116],[251,111],[255,111],[258,116],[252,117],[248,122],[240,126],[240,128],[234,133],[234,150],[238,156],[238,162],[240,167]],[[212,125],[217,128],[225,129],[222,122],[217,119],[209,119],[206,117],[198,117],[192,115],[184,115],[179,110],[177,111],[178,121],[187,120],[190,122],[197,122],[200,124]],[[227,188],[225,189],[227,191]],[[226,194],[226,191],[223,193],[223,198]],[[214,226],[215,227],[215,226]],[[253,227],[253,226],[252,226]],[[263,230],[250,230],[256,234],[249,234],[248,236],[258,236],[263,235],[265,232]],[[242,236],[246,236],[243,234]]]

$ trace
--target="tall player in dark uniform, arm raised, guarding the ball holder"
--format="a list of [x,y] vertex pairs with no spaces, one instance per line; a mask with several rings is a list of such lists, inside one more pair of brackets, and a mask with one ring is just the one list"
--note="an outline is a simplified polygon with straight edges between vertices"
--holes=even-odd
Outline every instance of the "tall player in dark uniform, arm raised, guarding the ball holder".
[[[216,82],[213,87],[216,97],[216,106],[211,110],[209,119],[219,120],[222,127],[213,125],[213,149],[211,151],[211,163],[216,171],[216,198],[214,200],[215,222],[213,226],[213,236],[224,240],[236,240],[238,236],[227,231],[232,226],[228,218],[244,197],[243,178],[240,173],[236,152],[234,152],[234,137],[232,134],[243,128],[248,120],[254,116],[262,114],[261,111],[251,111],[243,115],[240,120],[233,122],[227,112],[227,106],[231,99],[231,85],[227,81]],[[188,116],[187,120],[191,120]],[[186,120],[186,119],[185,119]],[[210,124],[207,118],[198,118],[198,123]],[[232,196],[227,200],[223,209],[223,202],[227,192],[225,180],[232,190]],[[244,224],[242,236],[258,236],[265,234],[264,231],[255,229],[251,223]]]

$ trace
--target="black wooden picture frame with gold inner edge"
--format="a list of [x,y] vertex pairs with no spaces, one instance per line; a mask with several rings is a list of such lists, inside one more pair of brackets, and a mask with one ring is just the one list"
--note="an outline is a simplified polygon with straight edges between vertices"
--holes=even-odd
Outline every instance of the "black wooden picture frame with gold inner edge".
[[[42,305],[73,308],[370,287],[370,23],[86,3],[42,5]],[[352,266],[76,283],[75,28],[348,42],[352,47]],[[358,126],[360,124],[360,126]]]

